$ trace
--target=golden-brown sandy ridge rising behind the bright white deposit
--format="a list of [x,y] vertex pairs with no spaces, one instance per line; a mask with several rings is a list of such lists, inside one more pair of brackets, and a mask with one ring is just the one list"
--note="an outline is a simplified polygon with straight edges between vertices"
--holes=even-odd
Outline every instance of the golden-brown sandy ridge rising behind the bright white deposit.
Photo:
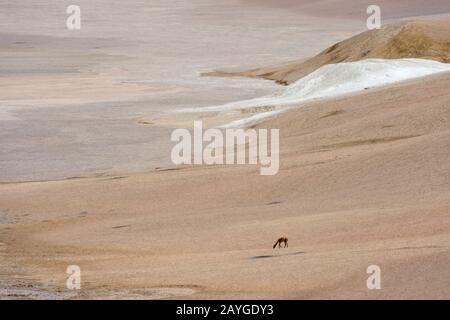
[[450,20],[412,21],[388,24],[338,42],[308,60],[293,61],[281,66],[258,68],[243,72],[214,71],[212,76],[244,76],[291,84],[314,70],[333,63],[363,59],[422,58],[450,62]]

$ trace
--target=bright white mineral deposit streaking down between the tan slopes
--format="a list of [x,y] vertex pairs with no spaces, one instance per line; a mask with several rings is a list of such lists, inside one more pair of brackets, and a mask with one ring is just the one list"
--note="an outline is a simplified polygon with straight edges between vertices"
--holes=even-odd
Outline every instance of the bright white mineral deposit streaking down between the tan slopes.
[[[289,107],[305,102],[357,93],[405,80],[450,71],[450,64],[425,59],[367,59],[357,62],[329,64],[289,85],[271,96],[228,103],[207,108],[184,109],[184,112],[222,111],[253,107]],[[281,108],[249,118],[233,121],[224,127],[243,126],[260,122],[285,111]]]

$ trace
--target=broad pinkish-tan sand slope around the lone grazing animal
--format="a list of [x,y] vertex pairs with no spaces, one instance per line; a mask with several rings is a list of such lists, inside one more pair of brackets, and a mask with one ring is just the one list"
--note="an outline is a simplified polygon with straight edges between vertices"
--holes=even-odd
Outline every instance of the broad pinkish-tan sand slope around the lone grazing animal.
[[[281,128],[276,176],[197,166],[2,184],[1,280],[65,297],[77,264],[88,298],[448,299],[449,85],[432,76],[261,124]],[[289,248],[273,250],[281,235]]]

